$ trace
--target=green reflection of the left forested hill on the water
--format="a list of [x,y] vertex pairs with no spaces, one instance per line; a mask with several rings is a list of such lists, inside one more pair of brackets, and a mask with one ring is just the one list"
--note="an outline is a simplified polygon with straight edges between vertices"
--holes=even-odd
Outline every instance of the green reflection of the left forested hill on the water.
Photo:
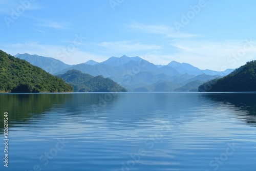
[[[28,123],[29,118],[51,110],[53,105],[61,104],[71,98],[71,94],[3,94],[0,95],[1,113],[8,112],[9,127]],[[3,120],[0,115],[0,120]],[[3,122],[0,122],[3,129]]]

